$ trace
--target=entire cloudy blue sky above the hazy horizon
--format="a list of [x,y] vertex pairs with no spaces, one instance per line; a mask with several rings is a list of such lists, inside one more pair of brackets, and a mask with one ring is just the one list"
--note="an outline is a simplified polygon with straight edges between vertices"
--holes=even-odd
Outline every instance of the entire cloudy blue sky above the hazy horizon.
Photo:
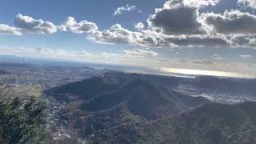
[[0,0],[0,54],[256,77],[256,0]]

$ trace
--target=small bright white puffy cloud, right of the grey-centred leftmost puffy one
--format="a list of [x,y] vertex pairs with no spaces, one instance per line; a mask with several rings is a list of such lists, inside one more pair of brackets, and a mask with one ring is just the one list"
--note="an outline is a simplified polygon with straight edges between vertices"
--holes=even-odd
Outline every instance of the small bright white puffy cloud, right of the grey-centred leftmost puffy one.
[[66,22],[59,26],[59,29],[63,31],[70,30],[73,33],[82,34],[94,32],[98,30],[98,26],[94,22],[88,22],[86,20],[76,22],[73,17],[68,17]]

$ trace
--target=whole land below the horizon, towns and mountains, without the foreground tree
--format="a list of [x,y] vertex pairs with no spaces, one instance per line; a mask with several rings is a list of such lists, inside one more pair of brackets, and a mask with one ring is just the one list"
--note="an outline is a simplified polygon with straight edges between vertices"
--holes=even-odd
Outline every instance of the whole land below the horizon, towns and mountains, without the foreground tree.
[[[255,141],[255,79],[186,78],[85,66],[15,64],[1,69],[10,72],[0,75],[5,90],[48,103],[46,127],[52,143]],[[207,134],[211,140],[205,139]]]

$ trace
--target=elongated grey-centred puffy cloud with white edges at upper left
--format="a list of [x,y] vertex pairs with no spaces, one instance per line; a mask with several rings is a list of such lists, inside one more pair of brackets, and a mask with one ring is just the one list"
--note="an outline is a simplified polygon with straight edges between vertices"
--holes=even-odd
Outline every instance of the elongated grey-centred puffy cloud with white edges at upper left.
[[42,19],[34,19],[18,14],[14,20],[18,28],[34,34],[53,34],[57,32],[57,26],[52,22],[44,22]]

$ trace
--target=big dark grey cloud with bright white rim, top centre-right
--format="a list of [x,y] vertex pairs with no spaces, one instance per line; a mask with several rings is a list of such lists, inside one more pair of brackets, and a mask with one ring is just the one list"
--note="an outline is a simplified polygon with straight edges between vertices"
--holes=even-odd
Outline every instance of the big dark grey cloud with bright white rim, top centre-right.
[[148,19],[152,29],[168,35],[202,34],[202,24],[198,22],[198,8],[185,5],[181,0],[171,0]]

